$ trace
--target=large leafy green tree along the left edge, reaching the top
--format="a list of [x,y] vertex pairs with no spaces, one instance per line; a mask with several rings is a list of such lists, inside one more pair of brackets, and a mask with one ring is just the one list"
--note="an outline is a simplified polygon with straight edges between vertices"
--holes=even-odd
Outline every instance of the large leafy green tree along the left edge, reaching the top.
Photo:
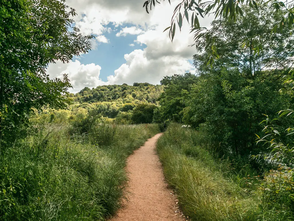
[[0,138],[4,129],[26,122],[31,108],[68,103],[67,75],[51,80],[46,67],[88,52],[93,36],[79,34],[75,10],[64,2],[0,0]]

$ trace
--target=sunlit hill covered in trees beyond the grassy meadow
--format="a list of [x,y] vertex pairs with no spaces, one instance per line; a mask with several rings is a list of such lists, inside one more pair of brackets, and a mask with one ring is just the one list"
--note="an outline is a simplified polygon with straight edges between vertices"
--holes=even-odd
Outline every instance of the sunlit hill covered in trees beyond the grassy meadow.
[[51,111],[45,108],[41,115],[50,122],[76,119],[76,128],[82,133],[88,132],[94,121],[152,123],[163,88],[164,85],[149,83],[103,85],[92,89],[86,87],[79,93],[68,95],[71,105],[65,110]]

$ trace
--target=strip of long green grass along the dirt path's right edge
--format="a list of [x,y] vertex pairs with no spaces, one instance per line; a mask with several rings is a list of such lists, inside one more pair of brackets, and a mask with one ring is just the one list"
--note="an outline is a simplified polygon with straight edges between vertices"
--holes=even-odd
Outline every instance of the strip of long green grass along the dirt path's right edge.
[[293,220],[289,207],[262,204],[260,185],[248,176],[249,169],[232,171],[228,161],[213,158],[198,138],[197,131],[171,124],[157,143],[164,175],[186,216],[201,221]]

